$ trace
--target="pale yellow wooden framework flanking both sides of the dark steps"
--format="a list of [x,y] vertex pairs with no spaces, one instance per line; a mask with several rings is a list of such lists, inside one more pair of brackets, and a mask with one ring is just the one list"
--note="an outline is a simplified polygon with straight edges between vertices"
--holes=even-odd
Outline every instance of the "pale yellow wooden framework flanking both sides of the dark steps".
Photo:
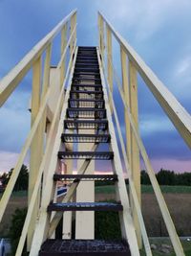
[[[22,164],[27,153],[31,151],[28,212],[16,250],[16,256],[22,255],[26,239],[28,240],[30,255],[36,256],[44,240],[53,237],[55,227],[63,216],[63,213],[60,212],[48,216],[47,206],[54,198],[53,194],[55,193],[53,174],[55,171],[60,170],[57,160],[57,151],[59,151],[61,147],[60,136],[62,134],[62,123],[66,115],[74,73],[74,63],[77,53],[76,26],[76,11],[74,10],[66,16],[51,33],[39,41],[32,51],[0,81],[0,105],[4,105],[14,89],[32,69],[32,127],[12,172],[6,191],[0,201],[0,221],[2,221]],[[121,35],[118,35],[117,31],[100,12],[98,12],[98,32],[99,45],[96,49],[96,55],[98,57],[100,77],[103,84],[108,125],[111,132],[110,147],[111,150],[115,152],[112,164],[114,173],[117,175],[117,197],[120,199],[123,206],[123,212],[120,214],[122,237],[128,241],[133,256],[139,255],[138,246],[139,248],[141,247],[142,241],[146,255],[152,255],[141,214],[139,167],[141,155],[159,202],[159,208],[176,255],[182,256],[184,253],[180,239],[159,189],[159,183],[151,166],[151,162],[138,133],[138,74],[143,81],[145,81],[146,85],[159,102],[159,105],[161,105],[190,148],[191,117],[125,39],[122,38]],[[58,34],[61,35],[60,59],[56,67],[52,67],[53,39]],[[117,40],[120,49],[120,75],[122,82],[118,79],[113,62],[114,38]],[[43,63],[44,53],[45,59]],[[42,66],[44,66],[43,71]],[[119,126],[117,107],[113,98],[114,80],[117,83],[117,89],[123,103],[126,130],[125,142]],[[108,87],[106,87],[107,84]],[[113,123],[113,117],[116,121],[116,129]],[[117,146],[117,133],[120,142],[119,146]],[[97,144],[92,144],[90,147],[91,151],[96,151],[97,147]],[[118,151],[119,147],[122,149],[121,155]],[[72,144],[66,144],[66,150],[72,151],[72,148]],[[125,170],[129,178],[129,198],[122,173],[121,156],[124,159]],[[80,162],[78,175],[84,175],[90,163],[91,159],[85,159]],[[70,163],[67,163],[67,165],[72,168]],[[68,173],[68,175],[71,175],[71,173]],[[79,182],[74,182],[71,185],[62,202],[71,201],[78,183]],[[65,227],[66,234],[63,234],[63,238],[70,239],[72,215],[66,213],[64,215],[67,218],[64,221],[68,225]],[[36,220],[38,220],[37,223]]]

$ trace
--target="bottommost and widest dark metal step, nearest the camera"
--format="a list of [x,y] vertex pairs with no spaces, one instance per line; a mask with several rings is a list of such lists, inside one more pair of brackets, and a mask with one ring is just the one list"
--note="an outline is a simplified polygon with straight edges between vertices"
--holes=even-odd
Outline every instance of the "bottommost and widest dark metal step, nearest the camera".
[[129,245],[117,240],[57,240],[45,241],[39,256],[131,256]]

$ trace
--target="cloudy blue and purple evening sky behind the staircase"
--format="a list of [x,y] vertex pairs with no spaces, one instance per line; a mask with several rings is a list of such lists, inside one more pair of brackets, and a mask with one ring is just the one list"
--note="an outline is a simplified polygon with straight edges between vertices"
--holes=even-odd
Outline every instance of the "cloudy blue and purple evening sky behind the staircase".
[[[97,11],[103,12],[191,112],[189,0],[0,0],[0,78],[75,8],[78,45],[97,45]],[[118,70],[117,60],[115,65]],[[31,78],[32,73],[0,109],[0,172],[15,165],[30,129]],[[121,105],[117,93],[115,101]],[[191,172],[190,150],[139,78],[138,115],[140,135],[154,169]],[[121,128],[124,133],[123,122]]]

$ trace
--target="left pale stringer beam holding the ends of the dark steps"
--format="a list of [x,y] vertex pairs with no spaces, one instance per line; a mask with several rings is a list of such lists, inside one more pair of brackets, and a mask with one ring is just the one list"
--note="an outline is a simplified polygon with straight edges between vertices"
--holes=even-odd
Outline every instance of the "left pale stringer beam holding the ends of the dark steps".
[[72,84],[73,74],[74,74],[74,64],[75,64],[76,54],[77,54],[77,47],[74,52],[74,62],[73,62],[73,66],[71,69],[71,75],[70,75],[70,78],[68,81],[69,86],[66,91],[65,101],[64,101],[64,105],[62,107],[59,125],[57,128],[57,133],[56,133],[54,144],[53,144],[53,153],[52,153],[52,157],[50,160],[50,166],[49,166],[49,169],[47,172],[46,185],[44,186],[44,190],[42,192],[42,200],[41,200],[41,207],[40,207],[40,212],[39,212],[39,219],[36,222],[36,226],[35,226],[35,230],[34,230],[34,234],[33,234],[33,238],[32,238],[32,248],[30,251],[30,256],[38,255],[40,246],[47,239],[48,232],[49,232],[51,214],[47,213],[47,207],[48,207],[49,203],[51,202],[51,200],[53,199],[53,193],[55,190],[55,182],[53,181],[53,174],[58,165],[57,152],[59,151],[60,145],[61,145],[60,137],[63,132],[63,120],[66,116],[66,110],[67,110],[67,105],[68,105],[68,100],[69,100],[69,95],[70,95],[70,90],[71,90],[71,84]]

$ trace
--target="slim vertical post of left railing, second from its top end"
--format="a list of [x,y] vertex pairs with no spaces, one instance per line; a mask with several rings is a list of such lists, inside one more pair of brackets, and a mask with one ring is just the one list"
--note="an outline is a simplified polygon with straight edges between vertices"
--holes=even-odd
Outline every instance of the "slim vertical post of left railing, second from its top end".
[[[61,57],[64,53],[66,45],[67,45],[67,23],[64,25],[61,31]],[[60,88],[62,87],[62,84],[64,82],[65,74],[66,74],[66,57],[63,59],[60,67]]]

